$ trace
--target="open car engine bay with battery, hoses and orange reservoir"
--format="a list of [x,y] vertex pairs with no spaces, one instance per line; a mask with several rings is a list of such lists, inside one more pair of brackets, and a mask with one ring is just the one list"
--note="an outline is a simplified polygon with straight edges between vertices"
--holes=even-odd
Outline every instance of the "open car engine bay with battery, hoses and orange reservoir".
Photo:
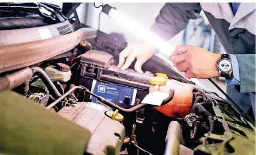
[[[10,44],[13,36],[5,35],[0,94],[11,90],[88,129],[87,154],[255,154],[255,123],[234,105],[182,77],[157,54],[143,74],[134,62],[121,70],[116,65],[127,42],[120,35],[71,19],[56,25],[63,22],[72,32],[50,39]],[[141,103],[154,92],[167,94],[161,105]]]

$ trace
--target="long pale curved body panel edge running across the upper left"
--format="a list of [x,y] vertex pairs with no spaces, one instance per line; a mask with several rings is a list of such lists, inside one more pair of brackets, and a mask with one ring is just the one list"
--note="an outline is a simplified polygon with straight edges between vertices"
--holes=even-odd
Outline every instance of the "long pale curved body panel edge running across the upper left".
[[[92,28],[79,29],[71,34],[0,48],[0,73],[31,66],[76,47],[80,41],[94,38],[97,31]],[[17,37],[23,37],[17,35]],[[22,39],[22,38],[17,38]]]

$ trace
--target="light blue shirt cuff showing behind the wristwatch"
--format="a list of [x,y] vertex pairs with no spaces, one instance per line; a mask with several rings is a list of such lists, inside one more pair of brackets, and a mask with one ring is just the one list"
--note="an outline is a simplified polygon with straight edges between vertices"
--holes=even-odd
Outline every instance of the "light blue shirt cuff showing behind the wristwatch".
[[228,85],[240,85],[240,75],[239,75],[239,64],[236,55],[229,54],[233,66],[233,76],[234,78],[226,78],[226,83]]

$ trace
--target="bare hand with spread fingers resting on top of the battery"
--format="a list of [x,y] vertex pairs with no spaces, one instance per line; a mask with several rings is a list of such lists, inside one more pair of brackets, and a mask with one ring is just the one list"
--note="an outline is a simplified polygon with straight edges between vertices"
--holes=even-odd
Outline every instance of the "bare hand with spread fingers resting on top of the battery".
[[141,66],[144,62],[150,59],[153,56],[152,48],[147,44],[128,44],[119,54],[119,63],[118,68],[127,69],[133,60],[136,58],[136,63],[134,69],[137,72],[143,73]]

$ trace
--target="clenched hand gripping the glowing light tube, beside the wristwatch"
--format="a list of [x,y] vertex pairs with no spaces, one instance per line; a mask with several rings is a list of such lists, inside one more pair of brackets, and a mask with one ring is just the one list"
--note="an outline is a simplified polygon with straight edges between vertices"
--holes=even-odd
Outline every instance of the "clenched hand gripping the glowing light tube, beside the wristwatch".
[[187,78],[219,77],[216,67],[219,59],[221,59],[221,54],[192,45],[178,45],[171,54],[173,66],[185,72]]

